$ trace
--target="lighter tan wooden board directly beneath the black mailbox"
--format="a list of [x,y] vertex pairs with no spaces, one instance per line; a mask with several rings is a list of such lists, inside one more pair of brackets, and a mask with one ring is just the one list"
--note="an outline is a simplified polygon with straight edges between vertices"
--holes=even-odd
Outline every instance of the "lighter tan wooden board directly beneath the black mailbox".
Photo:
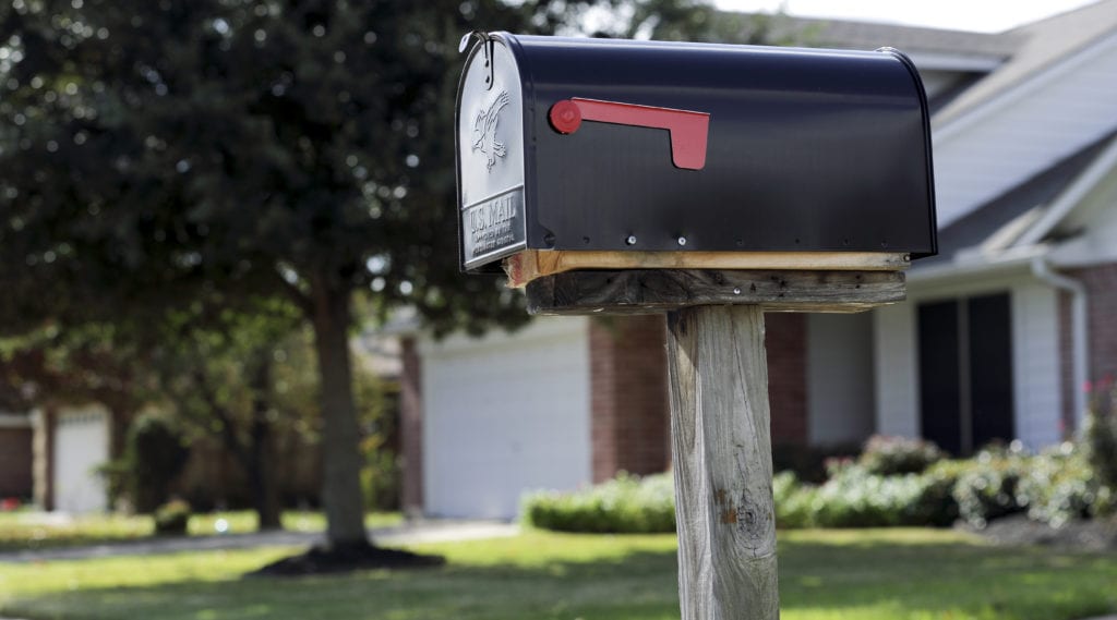
[[567,271],[588,269],[722,269],[794,271],[904,271],[901,252],[582,252],[524,250],[504,262],[508,288]]

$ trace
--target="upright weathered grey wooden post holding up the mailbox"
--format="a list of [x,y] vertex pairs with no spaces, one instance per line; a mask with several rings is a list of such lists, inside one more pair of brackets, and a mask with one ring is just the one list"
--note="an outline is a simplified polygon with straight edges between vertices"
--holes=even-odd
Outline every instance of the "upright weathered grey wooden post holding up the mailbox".
[[667,317],[682,620],[775,620],[775,512],[764,312]]

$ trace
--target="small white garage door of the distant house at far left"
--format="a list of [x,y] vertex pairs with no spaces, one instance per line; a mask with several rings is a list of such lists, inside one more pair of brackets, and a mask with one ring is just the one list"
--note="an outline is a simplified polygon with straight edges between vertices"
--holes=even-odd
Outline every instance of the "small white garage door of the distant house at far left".
[[101,407],[66,409],[55,423],[55,510],[105,510],[105,484],[94,469],[108,461],[108,415]]

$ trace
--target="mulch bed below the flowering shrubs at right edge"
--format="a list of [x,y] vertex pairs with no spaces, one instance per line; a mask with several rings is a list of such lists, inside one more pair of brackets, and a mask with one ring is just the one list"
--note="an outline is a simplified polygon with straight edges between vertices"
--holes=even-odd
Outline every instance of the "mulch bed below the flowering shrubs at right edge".
[[964,529],[995,544],[1117,551],[1117,520],[1071,521],[1060,527],[1051,527],[1018,514],[992,521],[982,530]]

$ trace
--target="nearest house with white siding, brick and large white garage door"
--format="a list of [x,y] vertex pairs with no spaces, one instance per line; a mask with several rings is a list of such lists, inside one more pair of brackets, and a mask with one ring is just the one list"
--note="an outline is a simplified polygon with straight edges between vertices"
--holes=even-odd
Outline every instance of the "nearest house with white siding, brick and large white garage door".
[[[1117,370],[1117,0],[986,35],[787,19],[822,47],[892,46],[933,112],[939,255],[908,301],[768,314],[773,443],[923,436],[955,454],[1081,427]],[[403,504],[510,517],[532,488],[669,466],[659,317],[537,319],[403,341]]]

